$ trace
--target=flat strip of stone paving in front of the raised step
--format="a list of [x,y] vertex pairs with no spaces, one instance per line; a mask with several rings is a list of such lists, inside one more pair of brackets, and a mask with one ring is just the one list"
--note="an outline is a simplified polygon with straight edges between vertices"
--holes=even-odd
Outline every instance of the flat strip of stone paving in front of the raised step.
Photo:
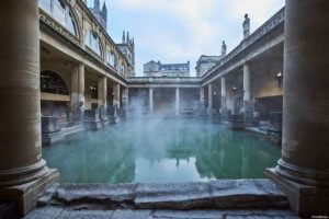
[[227,219],[285,218],[297,219],[291,210],[89,210],[61,207],[41,207],[25,219]]

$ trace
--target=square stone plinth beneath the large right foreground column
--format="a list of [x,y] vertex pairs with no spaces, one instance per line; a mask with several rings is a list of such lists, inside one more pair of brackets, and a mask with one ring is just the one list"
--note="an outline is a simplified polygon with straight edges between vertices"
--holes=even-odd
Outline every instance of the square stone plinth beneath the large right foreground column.
[[329,216],[329,187],[295,183],[279,175],[275,169],[268,169],[264,174],[288,196],[292,209],[299,216]]

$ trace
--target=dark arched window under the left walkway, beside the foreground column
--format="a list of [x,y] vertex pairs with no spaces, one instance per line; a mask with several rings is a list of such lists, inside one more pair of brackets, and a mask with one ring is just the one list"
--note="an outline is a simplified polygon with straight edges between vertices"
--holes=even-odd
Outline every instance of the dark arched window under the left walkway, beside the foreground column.
[[54,71],[41,72],[41,91],[45,93],[55,93],[61,95],[69,94],[65,81]]

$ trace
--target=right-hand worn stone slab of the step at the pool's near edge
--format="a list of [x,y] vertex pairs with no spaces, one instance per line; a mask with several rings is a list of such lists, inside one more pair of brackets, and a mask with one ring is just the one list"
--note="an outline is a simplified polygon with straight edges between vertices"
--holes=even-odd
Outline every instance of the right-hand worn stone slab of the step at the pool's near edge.
[[136,208],[226,209],[288,208],[287,197],[268,180],[222,180],[207,183],[140,184]]

